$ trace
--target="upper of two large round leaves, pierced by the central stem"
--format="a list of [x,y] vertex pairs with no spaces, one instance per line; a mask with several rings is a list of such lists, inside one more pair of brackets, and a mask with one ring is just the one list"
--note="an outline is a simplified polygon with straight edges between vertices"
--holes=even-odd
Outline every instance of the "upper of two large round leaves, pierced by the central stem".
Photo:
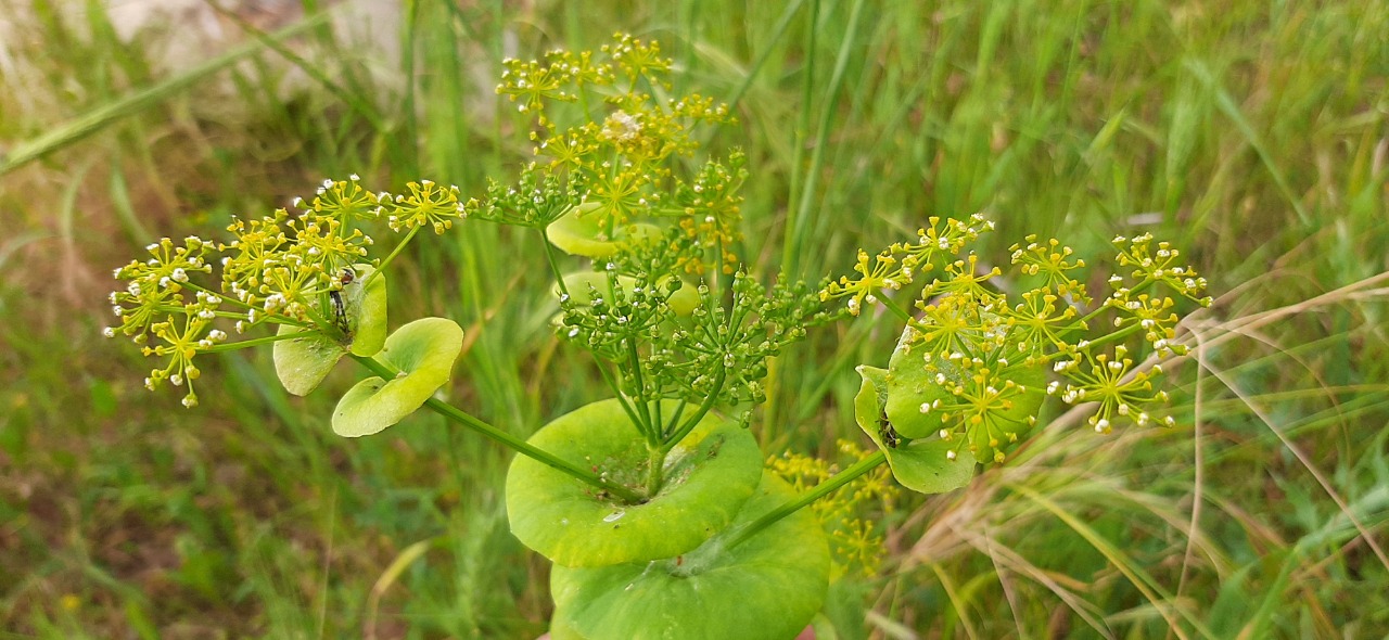
[[[664,401],[661,415],[679,403]],[[686,407],[689,418],[693,407]],[[649,454],[617,400],[593,403],[550,422],[531,444],[606,478],[644,490]],[[603,566],[682,554],[718,533],[753,494],[763,454],[751,433],[706,415],[671,450],[665,483],[642,504],[624,504],[583,482],[526,457],[507,472],[511,533],[565,566]]]

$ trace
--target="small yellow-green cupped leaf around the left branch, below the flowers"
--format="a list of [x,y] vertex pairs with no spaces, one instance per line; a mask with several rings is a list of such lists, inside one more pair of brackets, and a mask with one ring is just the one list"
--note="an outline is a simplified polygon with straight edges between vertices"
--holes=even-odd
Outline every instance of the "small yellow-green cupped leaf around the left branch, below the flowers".
[[463,351],[463,328],[444,318],[417,319],[396,329],[375,360],[400,373],[390,382],[358,382],[333,410],[333,433],[369,436],[394,425],[425,404],[449,382]]

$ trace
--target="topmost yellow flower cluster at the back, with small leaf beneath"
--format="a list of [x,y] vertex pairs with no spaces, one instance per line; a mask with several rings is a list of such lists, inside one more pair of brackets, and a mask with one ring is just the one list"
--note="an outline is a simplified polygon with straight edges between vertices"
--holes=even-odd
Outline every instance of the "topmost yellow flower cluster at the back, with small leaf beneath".
[[535,118],[538,160],[511,185],[489,180],[483,199],[464,204],[465,215],[540,229],[568,215],[553,229],[556,244],[601,258],[633,224],[656,222],[681,229],[688,273],[711,264],[736,269],[742,153],[689,175],[682,169],[699,149],[693,133],[729,122],[728,107],[699,94],[657,97],[669,89],[671,68],[658,44],[619,33],[596,53],[551,51],[504,65],[497,93]]

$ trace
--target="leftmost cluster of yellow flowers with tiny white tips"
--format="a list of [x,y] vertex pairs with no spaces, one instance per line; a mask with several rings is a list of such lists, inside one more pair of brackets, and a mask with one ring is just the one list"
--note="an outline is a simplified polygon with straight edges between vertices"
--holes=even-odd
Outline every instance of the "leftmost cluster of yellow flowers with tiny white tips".
[[[442,233],[463,215],[457,187],[422,180],[407,193],[372,193],[358,176],[325,180],[311,201],[296,199],[297,214],[279,208],[256,219],[233,219],[226,242],[197,236],[182,244],[165,237],[147,247],[150,257],[115,269],[125,282],[111,293],[119,325],[108,337],[126,336],[142,353],[164,360],[150,371],[150,390],[165,382],[186,387],[185,407],[197,404],[193,380],[200,354],[304,339],[311,332],[349,346],[365,285],[421,228]],[[374,240],[364,225],[385,221],[404,232],[394,251],[372,260]],[[214,265],[219,273],[214,278]],[[231,340],[253,328],[276,325],[278,335]]]

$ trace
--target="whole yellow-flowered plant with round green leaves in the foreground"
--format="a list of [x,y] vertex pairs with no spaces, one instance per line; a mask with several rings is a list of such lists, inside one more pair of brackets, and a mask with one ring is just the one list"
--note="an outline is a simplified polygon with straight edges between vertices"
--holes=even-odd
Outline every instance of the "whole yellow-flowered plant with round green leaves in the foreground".
[[[825,530],[840,572],[876,566],[881,533],[858,508],[895,489],[885,473],[870,475],[875,466],[886,461],[915,491],[961,487],[976,460],[1006,460],[1049,393],[1093,403],[1101,433],[1121,418],[1145,425],[1165,400],[1153,390],[1154,362],[1182,351],[1167,293],[1208,304],[1204,279],[1149,236],[1115,240],[1115,262],[1129,272],[1108,280],[1113,294],[1100,304],[1075,275],[1085,262],[1057,240],[1014,246],[1015,280],[1003,286],[1003,269],[968,250],[993,230],[981,215],[929,218],[914,242],[858,251],[854,278],[764,285],[732,250],[745,155],[696,157],[694,132],[728,122],[728,108],[693,93],[665,97],[671,61],[656,44],[619,35],[599,54],[554,51],[506,67],[497,93],[533,117],[524,130],[536,160],[514,182],[489,180],[482,197],[463,200],[458,187],[431,180],[374,194],[353,176],[325,182],[311,203],[294,203],[299,212],[235,221],[228,243],[161,240],[151,260],[117,271],[131,282],[111,297],[121,326],[107,333],[158,339],[146,353],[169,362],[147,385],[186,382],[189,405],[200,351],[275,343],[293,394],[319,386],[350,353],[376,376],[339,400],[335,433],[378,433],[428,403],[525,454],[507,476],[507,511],[513,533],[557,565],[557,636],[795,634],[825,597]],[[439,235],[461,218],[538,232],[558,289],[558,332],[594,355],[611,400],[529,441],[431,400],[450,379],[463,329],[425,318],[386,336],[381,273],[419,229]],[[378,222],[403,233],[383,258],[361,229]],[[564,275],[556,249],[596,262]],[[193,282],[213,276],[217,253],[222,294]],[[1018,287],[1029,289],[1011,293]],[[896,301],[899,292],[911,304]],[[839,298],[842,311],[825,311]],[[879,304],[906,328],[886,371],[858,369],[854,412],[882,454],[845,447],[858,458],[845,473],[774,458],[764,475],[745,428],[768,398],[770,361],[808,329]],[[1107,333],[1090,329],[1101,318]],[[214,322],[238,333],[271,323],[276,333],[225,343]],[[1131,350],[1150,361],[1135,364]],[[1060,380],[1049,383],[1053,375]],[[822,500],[865,475],[853,494]],[[817,500],[811,518],[801,510]]]

